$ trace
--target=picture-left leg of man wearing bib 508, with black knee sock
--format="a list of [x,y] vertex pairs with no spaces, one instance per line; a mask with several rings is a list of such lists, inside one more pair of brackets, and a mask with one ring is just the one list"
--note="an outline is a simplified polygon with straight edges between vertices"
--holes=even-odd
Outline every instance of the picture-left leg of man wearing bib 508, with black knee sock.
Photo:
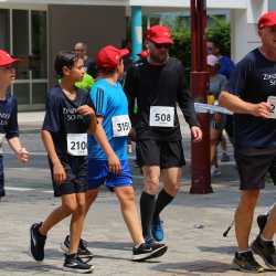
[[152,216],[156,208],[156,194],[159,190],[160,167],[145,166],[142,173],[145,178],[144,191],[140,197],[142,235],[150,240]]

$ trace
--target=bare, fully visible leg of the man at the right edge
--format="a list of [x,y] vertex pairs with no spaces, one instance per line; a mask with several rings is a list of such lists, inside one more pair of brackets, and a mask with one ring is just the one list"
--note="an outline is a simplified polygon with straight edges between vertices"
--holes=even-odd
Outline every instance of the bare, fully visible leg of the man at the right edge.
[[238,252],[248,251],[248,240],[252,229],[254,210],[259,197],[259,190],[243,190],[235,212],[235,233]]

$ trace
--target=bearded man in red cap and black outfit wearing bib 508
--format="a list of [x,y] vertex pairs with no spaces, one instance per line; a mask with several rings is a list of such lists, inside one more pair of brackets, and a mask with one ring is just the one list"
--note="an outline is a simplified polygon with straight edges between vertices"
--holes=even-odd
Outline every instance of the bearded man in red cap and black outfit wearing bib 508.
[[[136,132],[137,158],[145,178],[140,198],[142,233],[150,244],[153,238],[163,240],[159,214],[177,195],[181,167],[185,163],[177,104],[194,141],[201,140],[202,132],[193,99],[184,88],[184,68],[180,61],[169,56],[173,44],[170,30],[153,25],[147,31],[146,39],[148,56],[128,71],[125,91],[132,135]],[[135,115],[136,100],[138,113]],[[161,173],[163,189],[158,194]]]

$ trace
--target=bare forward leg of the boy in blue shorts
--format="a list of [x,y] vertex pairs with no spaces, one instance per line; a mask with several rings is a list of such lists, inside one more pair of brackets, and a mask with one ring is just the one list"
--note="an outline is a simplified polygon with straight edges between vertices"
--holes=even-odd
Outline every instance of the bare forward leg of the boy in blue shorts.
[[145,242],[142,237],[141,224],[135,203],[135,191],[132,187],[117,187],[114,191],[119,200],[123,217],[135,245]]

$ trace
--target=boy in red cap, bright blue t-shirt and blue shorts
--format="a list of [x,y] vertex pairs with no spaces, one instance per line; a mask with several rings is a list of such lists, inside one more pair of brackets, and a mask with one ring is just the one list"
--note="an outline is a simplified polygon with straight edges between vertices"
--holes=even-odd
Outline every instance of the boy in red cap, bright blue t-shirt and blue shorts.
[[[127,142],[131,124],[128,117],[127,97],[118,82],[124,74],[123,57],[128,50],[112,45],[103,47],[97,54],[98,79],[91,91],[96,107],[98,124],[109,141],[108,149],[100,148],[97,134],[88,140],[88,192],[87,211],[95,201],[99,187],[106,184],[117,195],[124,220],[134,241],[132,261],[145,261],[163,255],[164,244],[148,245],[142,237],[140,221],[135,203],[132,178],[128,164]],[[114,162],[109,160],[109,155]]]

